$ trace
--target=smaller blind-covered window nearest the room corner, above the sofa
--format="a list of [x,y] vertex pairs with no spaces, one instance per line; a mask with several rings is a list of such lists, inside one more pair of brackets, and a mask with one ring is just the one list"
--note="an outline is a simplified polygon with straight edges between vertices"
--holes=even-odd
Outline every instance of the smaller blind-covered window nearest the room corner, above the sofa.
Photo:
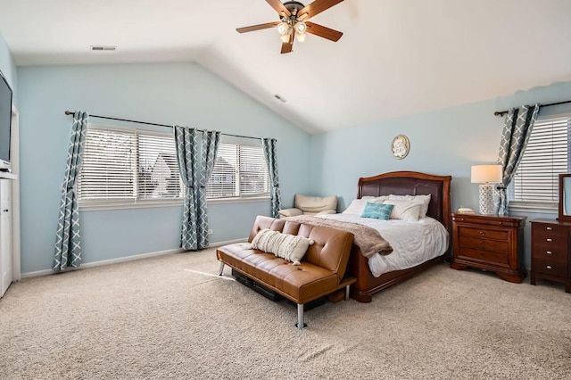
[[268,165],[261,145],[220,143],[207,198],[269,196]]

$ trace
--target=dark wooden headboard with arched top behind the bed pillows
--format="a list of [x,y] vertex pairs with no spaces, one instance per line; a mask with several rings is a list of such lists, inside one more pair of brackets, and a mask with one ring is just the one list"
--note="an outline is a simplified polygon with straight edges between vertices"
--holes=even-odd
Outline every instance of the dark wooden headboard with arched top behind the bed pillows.
[[426,215],[451,227],[451,176],[433,176],[418,171],[391,171],[375,177],[359,178],[357,198],[379,195],[426,195],[430,204]]

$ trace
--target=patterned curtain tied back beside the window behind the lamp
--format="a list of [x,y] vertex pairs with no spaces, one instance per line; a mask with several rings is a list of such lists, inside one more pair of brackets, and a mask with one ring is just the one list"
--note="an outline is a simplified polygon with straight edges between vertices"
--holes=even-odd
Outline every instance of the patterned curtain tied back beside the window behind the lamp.
[[512,108],[506,114],[506,120],[501,134],[500,154],[498,164],[503,169],[499,202],[496,203],[495,211],[499,215],[508,213],[508,197],[506,189],[516,174],[517,166],[523,156],[525,145],[532,134],[539,104],[533,106],[524,105],[519,109]]

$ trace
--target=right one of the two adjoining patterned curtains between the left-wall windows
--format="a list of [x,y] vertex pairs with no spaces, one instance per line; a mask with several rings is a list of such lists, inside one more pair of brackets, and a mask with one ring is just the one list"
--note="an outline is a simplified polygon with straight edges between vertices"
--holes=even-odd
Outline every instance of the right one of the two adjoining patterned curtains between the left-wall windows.
[[208,215],[206,208],[206,186],[208,178],[211,178],[214,162],[216,161],[216,153],[218,153],[218,145],[220,143],[220,132],[204,131],[203,132],[203,159],[200,171],[200,184],[198,187],[197,211],[198,211],[198,249],[208,247]]

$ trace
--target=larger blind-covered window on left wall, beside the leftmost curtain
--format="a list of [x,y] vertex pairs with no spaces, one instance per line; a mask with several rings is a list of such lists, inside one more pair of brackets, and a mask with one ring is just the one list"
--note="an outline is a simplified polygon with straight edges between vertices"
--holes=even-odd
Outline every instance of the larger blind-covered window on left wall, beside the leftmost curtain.
[[78,180],[81,205],[179,201],[183,188],[170,133],[87,127]]

